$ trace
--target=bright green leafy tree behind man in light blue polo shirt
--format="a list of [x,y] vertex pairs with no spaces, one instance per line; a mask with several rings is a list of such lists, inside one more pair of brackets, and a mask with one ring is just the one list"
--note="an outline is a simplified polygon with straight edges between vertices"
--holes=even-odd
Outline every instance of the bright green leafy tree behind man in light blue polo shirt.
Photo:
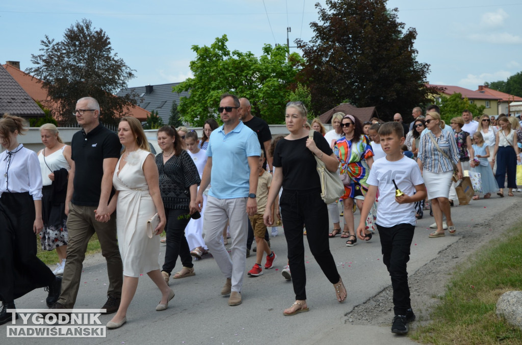
[[190,91],[179,105],[183,120],[203,126],[208,117],[218,118],[219,97],[230,92],[250,100],[253,115],[269,124],[283,123],[290,87],[303,65],[301,56],[290,54],[286,45],[265,44],[257,58],[251,52],[230,52],[227,41],[223,35],[210,46],[192,46],[197,54],[190,63],[194,78],[173,87],[173,92]]

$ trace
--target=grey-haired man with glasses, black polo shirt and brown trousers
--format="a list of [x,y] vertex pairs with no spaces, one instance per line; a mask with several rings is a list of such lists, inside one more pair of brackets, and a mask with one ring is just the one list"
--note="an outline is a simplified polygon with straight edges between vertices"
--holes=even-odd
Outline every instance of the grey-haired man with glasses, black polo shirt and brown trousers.
[[100,105],[91,97],[76,103],[76,120],[83,128],[71,141],[74,164],[69,172],[65,213],[69,243],[60,299],[52,308],[73,308],[80,285],[87,243],[96,232],[109,274],[108,300],[102,309],[114,313],[120,306],[123,264],[116,240],[116,217],[108,204],[114,191],[112,175],[122,145],[120,139],[100,121]]

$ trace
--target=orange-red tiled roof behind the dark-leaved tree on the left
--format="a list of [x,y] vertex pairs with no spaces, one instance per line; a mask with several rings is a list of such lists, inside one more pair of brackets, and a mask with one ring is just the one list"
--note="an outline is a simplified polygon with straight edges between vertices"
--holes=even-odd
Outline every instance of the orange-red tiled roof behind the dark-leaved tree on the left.
[[[52,113],[55,113],[57,110],[57,104],[49,97],[49,94],[42,86],[42,81],[38,78],[35,78],[22,70],[20,70],[20,63],[17,61],[6,61],[5,65],[2,65],[7,72],[18,82],[18,84],[29,94],[29,96],[35,100],[42,103],[45,108],[51,110]],[[140,122],[145,122],[147,120],[147,115],[150,115],[149,111],[146,111],[143,108],[140,108],[137,105],[127,106],[125,109],[125,113],[130,114],[133,117],[136,117]]]

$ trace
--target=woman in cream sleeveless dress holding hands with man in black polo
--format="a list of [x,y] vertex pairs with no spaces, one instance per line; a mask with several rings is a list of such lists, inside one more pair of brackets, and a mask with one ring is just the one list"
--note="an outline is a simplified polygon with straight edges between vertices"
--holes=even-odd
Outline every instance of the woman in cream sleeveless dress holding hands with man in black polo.
[[[125,147],[116,165],[112,183],[116,189],[109,207],[116,209],[118,246],[123,261],[123,288],[120,307],[107,328],[121,327],[127,322],[127,308],[136,293],[138,278],[147,273],[161,291],[157,311],[167,309],[174,291],[161,276],[158,263],[159,238],[166,217],[161,200],[158,168],[143,128],[134,117],[123,117],[118,125],[118,137]],[[158,213],[160,222],[152,234],[147,234],[147,220]],[[151,238],[149,237],[151,236]]]

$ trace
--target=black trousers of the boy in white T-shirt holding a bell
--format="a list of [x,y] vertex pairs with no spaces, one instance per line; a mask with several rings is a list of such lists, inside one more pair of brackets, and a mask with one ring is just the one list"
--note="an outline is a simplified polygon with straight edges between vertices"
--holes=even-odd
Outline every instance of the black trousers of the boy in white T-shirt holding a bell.
[[383,262],[392,278],[395,315],[406,315],[406,311],[411,308],[406,264],[410,260],[415,225],[403,223],[386,228],[377,224],[377,230],[381,239]]

